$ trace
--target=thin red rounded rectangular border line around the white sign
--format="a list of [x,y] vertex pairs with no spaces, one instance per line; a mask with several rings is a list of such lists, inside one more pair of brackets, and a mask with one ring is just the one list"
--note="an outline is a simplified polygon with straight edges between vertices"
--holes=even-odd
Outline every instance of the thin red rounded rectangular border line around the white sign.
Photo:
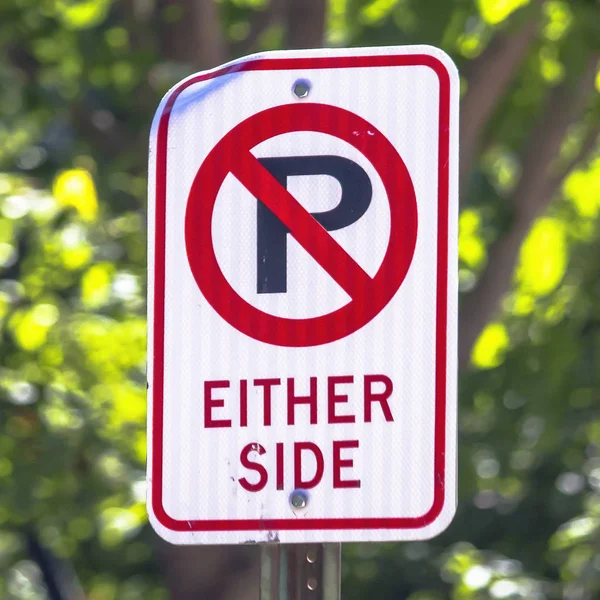
[[[165,321],[165,225],[167,192],[167,140],[171,110],[189,86],[243,71],[374,68],[424,66],[432,69],[440,85],[438,148],[438,230],[434,494],[429,510],[419,517],[324,518],[324,519],[205,519],[178,520],[163,506],[163,425],[164,425],[164,321]],[[422,529],[441,514],[446,499],[446,369],[448,318],[448,208],[450,159],[450,75],[446,66],[428,54],[349,56],[313,58],[256,58],[192,77],[171,92],[158,123],[155,198],[154,263],[154,370],[152,380],[152,511],[157,521],[171,531],[263,531],[263,530],[365,530]]]

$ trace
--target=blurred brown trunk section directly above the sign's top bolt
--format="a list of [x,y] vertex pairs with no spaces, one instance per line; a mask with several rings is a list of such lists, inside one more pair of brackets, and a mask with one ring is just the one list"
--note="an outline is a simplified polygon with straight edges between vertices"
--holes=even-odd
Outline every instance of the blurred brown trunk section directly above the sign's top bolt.
[[326,0],[287,0],[287,48],[319,48],[325,37]]

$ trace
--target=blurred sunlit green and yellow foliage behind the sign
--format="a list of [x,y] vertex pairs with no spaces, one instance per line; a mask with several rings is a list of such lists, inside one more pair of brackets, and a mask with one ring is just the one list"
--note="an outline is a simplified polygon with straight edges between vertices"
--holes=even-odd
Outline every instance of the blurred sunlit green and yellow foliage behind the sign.
[[[468,73],[537,4],[330,0],[326,36],[438,45]],[[285,44],[278,24],[248,41],[268,5],[218,2],[234,52]],[[169,597],[144,503],[145,206],[153,112],[191,72],[159,35],[181,18],[177,2],[0,3],[2,598],[52,597],[32,540],[76,573],[73,598]],[[464,292],[511,227],[506,200],[546,96],[599,50],[597,2],[543,3],[463,185]],[[557,162],[577,156],[599,98]],[[453,525],[430,542],[345,548],[344,598],[600,597],[600,156],[570,167],[461,377]]]

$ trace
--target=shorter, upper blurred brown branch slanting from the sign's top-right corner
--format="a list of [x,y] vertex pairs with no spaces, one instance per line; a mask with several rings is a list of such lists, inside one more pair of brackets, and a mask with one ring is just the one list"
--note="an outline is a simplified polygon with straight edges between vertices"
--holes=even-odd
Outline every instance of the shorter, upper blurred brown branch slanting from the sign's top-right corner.
[[514,35],[500,34],[472,62],[468,88],[461,102],[460,183],[466,183],[481,130],[527,56],[538,31],[540,11]]

